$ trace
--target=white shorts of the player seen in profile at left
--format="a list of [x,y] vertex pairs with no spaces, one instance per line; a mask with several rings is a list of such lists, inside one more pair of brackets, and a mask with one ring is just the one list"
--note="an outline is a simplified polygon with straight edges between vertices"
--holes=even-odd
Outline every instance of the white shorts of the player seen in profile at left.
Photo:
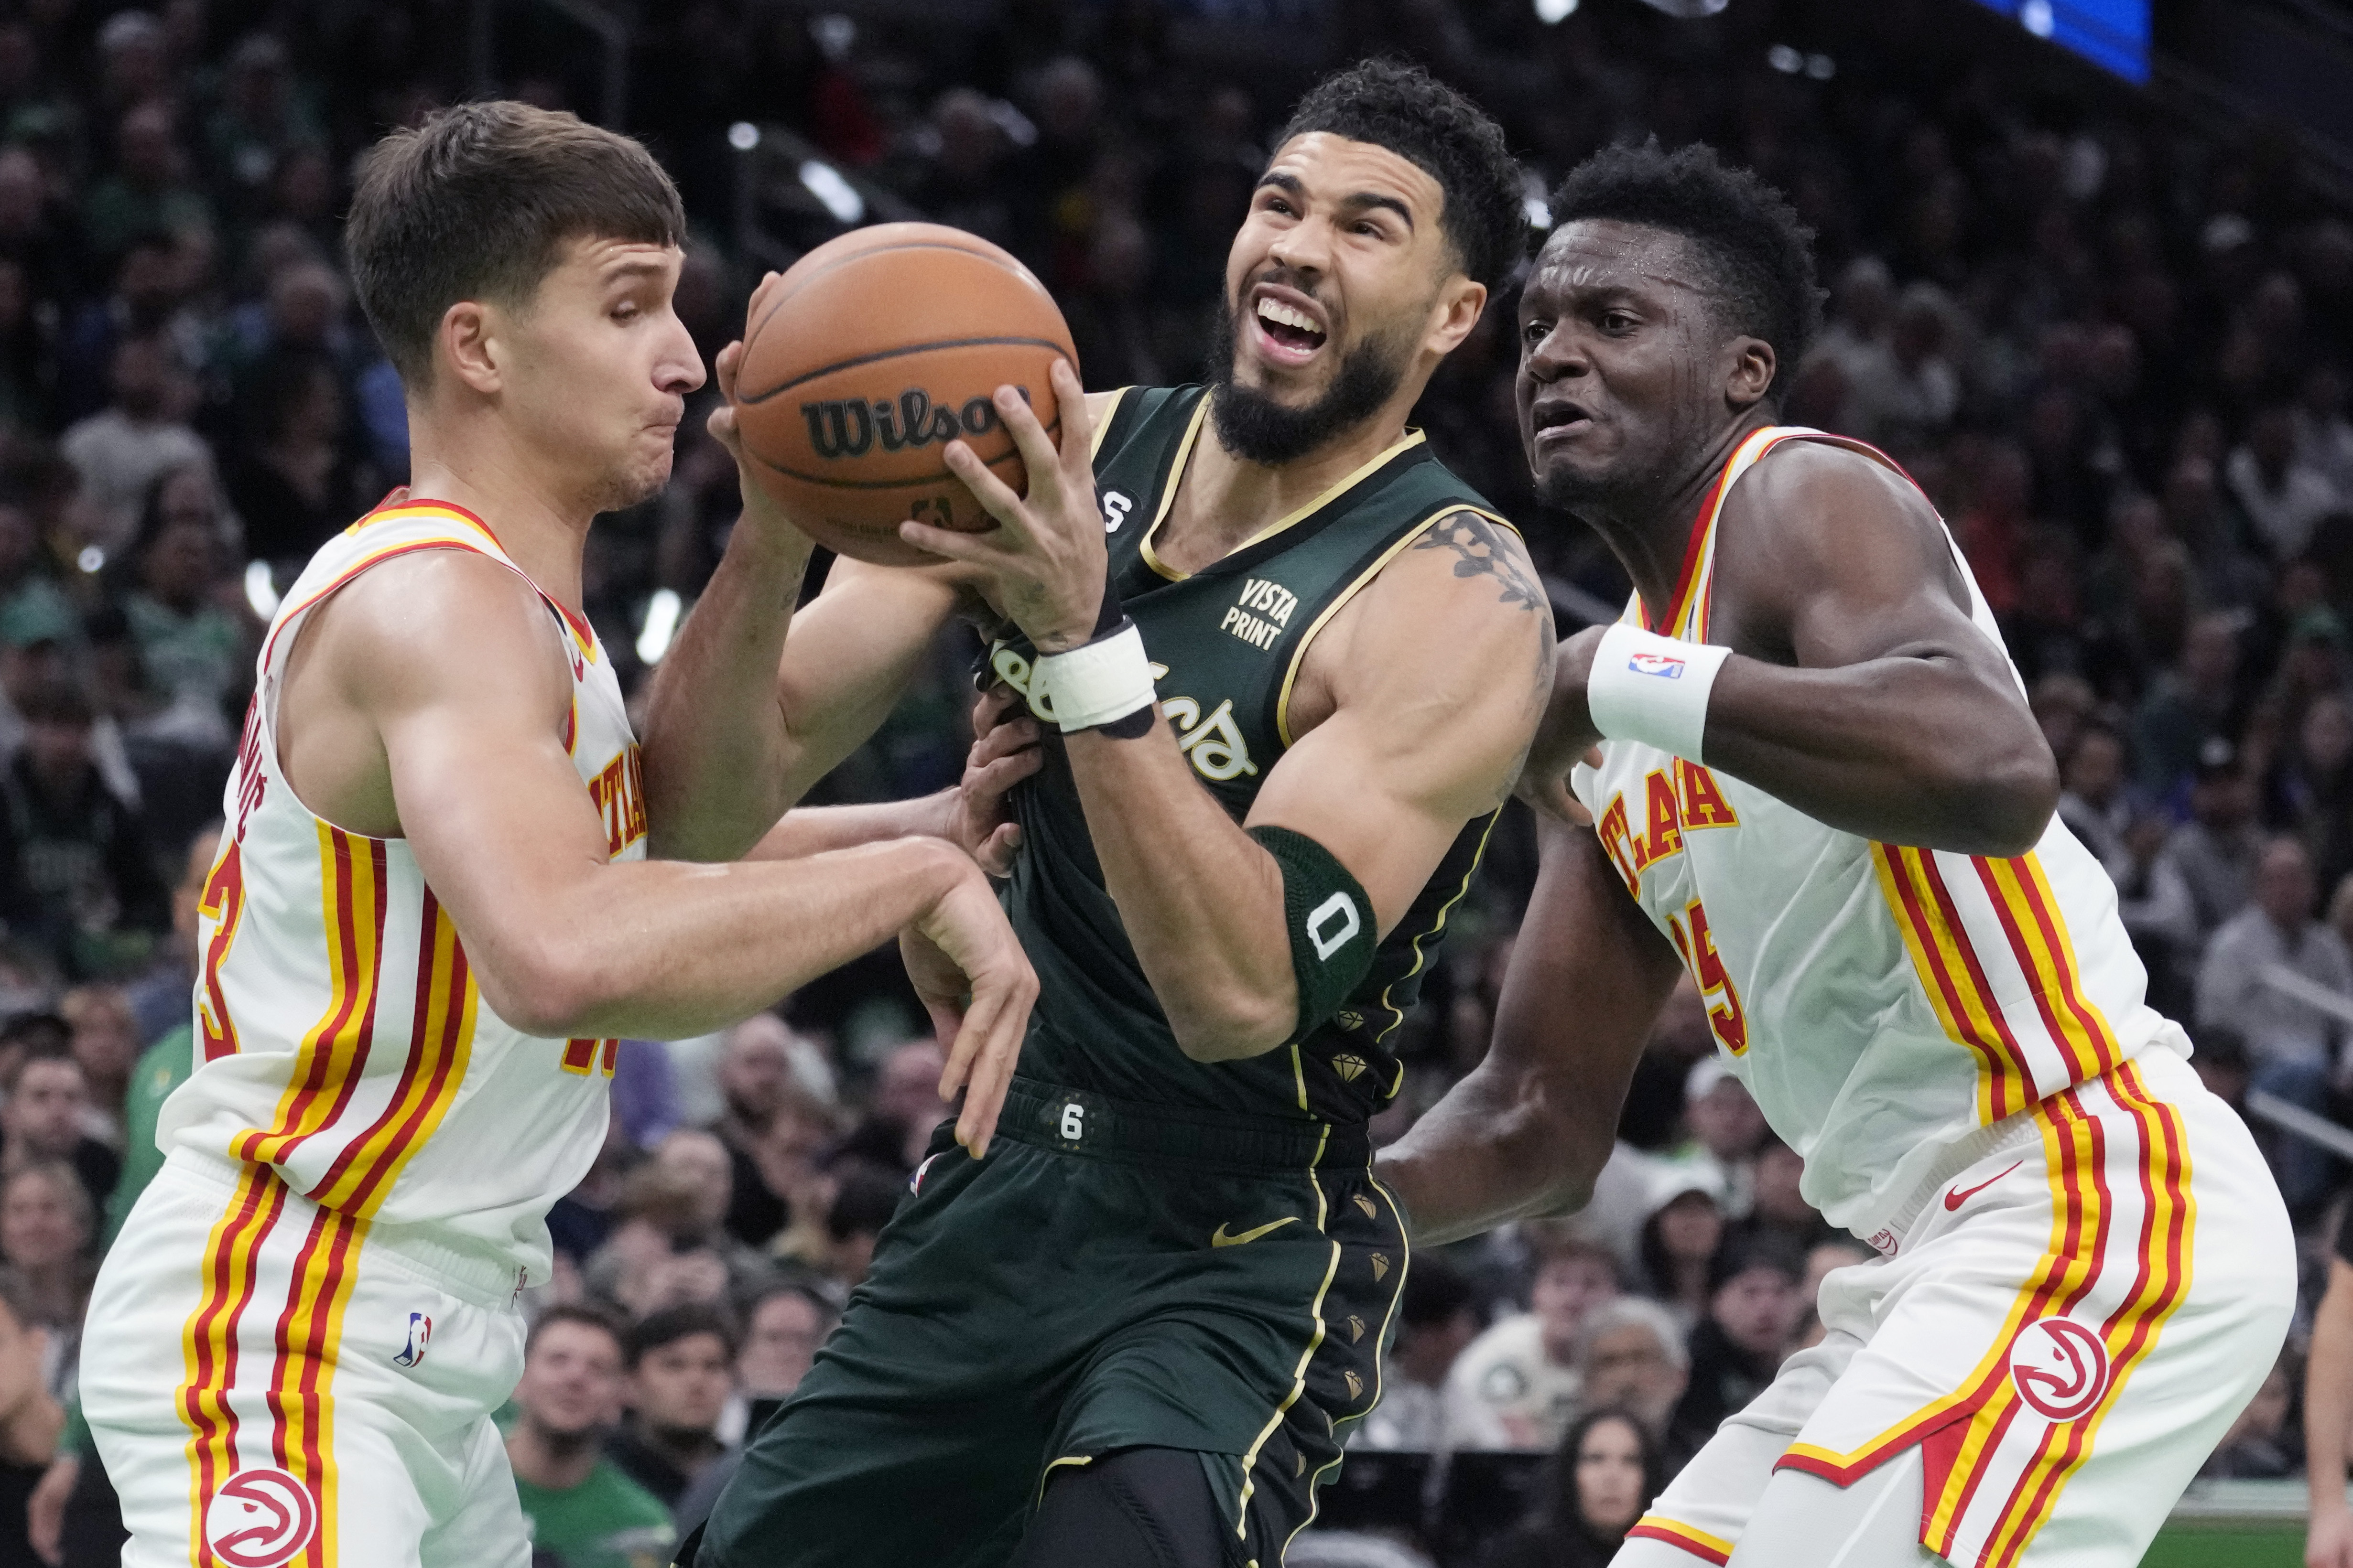
[[82,1410],[125,1568],[522,1568],[489,1413],[522,1373],[508,1265],[174,1154],[106,1253]]

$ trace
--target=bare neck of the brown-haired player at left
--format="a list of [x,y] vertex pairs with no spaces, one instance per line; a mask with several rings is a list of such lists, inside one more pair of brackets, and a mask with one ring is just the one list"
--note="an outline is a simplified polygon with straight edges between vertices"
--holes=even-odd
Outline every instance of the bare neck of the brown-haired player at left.
[[546,463],[520,449],[496,421],[419,418],[409,409],[409,501],[447,501],[489,524],[499,545],[548,595],[581,609],[581,555],[595,501],[565,494]]

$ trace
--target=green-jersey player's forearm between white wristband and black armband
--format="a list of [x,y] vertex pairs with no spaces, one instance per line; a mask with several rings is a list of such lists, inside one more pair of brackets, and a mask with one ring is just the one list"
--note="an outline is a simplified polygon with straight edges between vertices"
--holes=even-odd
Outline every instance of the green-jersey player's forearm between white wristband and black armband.
[[1068,738],[1104,886],[1193,1060],[1273,1051],[1299,1023],[1282,870],[1226,816],[1165,724]]

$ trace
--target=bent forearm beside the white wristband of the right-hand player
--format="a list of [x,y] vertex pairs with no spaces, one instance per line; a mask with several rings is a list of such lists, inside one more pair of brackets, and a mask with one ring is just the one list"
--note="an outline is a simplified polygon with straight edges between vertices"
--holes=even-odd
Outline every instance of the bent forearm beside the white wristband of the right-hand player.
[[1972,856],[2026,853],[2059,804],[2024,701],[1948,656],[1838,670],[1727,658],[1706,762],[1831,827]]

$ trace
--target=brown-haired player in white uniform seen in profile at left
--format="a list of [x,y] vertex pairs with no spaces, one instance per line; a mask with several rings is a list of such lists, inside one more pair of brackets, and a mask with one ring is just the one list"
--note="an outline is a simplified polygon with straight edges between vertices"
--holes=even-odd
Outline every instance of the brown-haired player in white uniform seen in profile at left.
[[944,1088],[986,1147],[1035,978],[960,849],[645,863],[581,545],[668,477],[701,381],[682,233],[640,146],[520,103],[433,115],[360,179],[416,477],[261,651],[195,1072],[82,1340],[129,1568],[529,1561],[489,1413],[616,1034],[715,1027],[901,931],[927,994],[972,992]]

